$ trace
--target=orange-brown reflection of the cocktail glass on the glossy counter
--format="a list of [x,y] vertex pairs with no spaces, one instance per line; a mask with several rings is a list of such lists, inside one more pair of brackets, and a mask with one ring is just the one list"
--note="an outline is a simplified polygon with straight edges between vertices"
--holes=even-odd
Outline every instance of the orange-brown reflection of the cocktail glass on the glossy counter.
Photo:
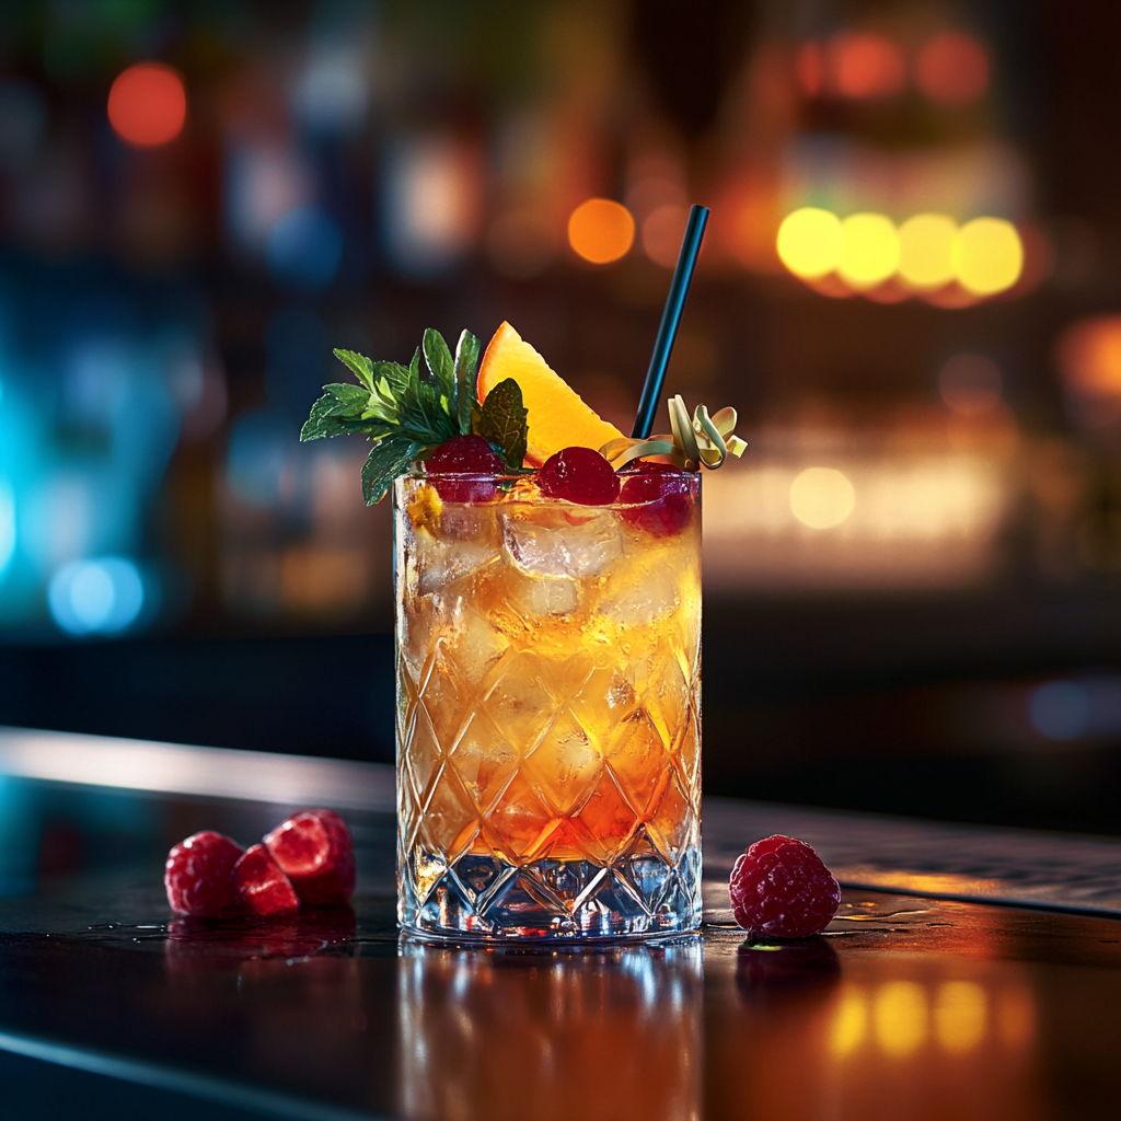
[[700,938],[463,949],[402,938],[407,1118],[683,1121],[702,1113]]

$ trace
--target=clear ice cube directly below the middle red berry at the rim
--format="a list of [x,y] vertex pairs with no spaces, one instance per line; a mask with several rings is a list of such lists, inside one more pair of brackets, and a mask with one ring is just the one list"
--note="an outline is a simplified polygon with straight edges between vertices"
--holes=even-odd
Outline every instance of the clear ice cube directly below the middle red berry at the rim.
[[[532,519],[510,511],[502,520],[502,544],[510,559],[529,576],[597,576],[622,555],[619,524],[610,511],[556,511]],[[586,520],[585,520],[586,519]]]

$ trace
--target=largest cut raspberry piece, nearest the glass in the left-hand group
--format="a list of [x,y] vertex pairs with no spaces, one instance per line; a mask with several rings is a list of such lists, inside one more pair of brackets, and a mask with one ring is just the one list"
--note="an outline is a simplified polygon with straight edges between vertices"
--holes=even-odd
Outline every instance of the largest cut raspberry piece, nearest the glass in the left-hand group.
[[266,839],[274,860],[305,904],[345,902],[354,890],[354,842],[332,809],[302,809]]

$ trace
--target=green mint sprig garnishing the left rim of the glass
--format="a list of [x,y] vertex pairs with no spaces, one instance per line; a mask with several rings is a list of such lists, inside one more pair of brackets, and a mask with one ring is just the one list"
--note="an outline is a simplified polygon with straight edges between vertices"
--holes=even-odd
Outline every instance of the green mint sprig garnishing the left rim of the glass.
[[[483,436],[511,470],[520,471],[528,432],[521,390],[508,378],[480,408],[475,396],[479,351],[479,340],[464,331],[453,358],[444,336],[432,327],[425,331],[424,343],[407,367],[336,350],[335,358],[359,383],[324,386],[299,438],[362,433],[370,439],[373,447],[362,467],[362,494],[368,506],[380,502],[415,460],[453,436],[472,432]],[[425,370],[420,368],[421,352]]]

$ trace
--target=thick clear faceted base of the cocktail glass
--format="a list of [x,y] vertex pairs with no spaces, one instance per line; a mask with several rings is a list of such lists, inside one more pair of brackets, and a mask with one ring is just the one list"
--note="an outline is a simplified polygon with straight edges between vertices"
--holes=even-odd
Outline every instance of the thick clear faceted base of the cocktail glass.
[[688,934],[701,927],[701,850],[676,861],[632,855],[611,867],[539,860],[520,867],[423,850],[401,869],[406,930],[457,942],[593,942]]

